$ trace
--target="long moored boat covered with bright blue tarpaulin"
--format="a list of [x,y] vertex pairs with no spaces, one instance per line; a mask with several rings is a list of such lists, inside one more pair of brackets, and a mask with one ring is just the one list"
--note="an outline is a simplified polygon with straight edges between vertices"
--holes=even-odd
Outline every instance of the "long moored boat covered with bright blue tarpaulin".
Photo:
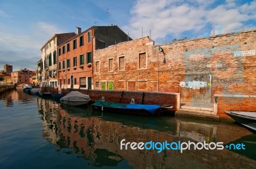
[[124,114],[137,114],[137,115],[160,115],[168,112],[171,105],[141,105],[141,104],[124,104],[115,102],[106,102],[98,100],[92,104],[92,107],[102,112],[115,112]]

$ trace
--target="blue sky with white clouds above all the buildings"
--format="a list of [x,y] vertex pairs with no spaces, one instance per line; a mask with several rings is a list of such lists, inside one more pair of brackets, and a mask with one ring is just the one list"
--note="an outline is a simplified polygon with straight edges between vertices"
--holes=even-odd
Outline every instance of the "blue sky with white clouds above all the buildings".
[[0,0],[0,70],[36,70],[45,42],[76,27],[113,24],[161,44],[256,29],[255,21],[256,0]]

